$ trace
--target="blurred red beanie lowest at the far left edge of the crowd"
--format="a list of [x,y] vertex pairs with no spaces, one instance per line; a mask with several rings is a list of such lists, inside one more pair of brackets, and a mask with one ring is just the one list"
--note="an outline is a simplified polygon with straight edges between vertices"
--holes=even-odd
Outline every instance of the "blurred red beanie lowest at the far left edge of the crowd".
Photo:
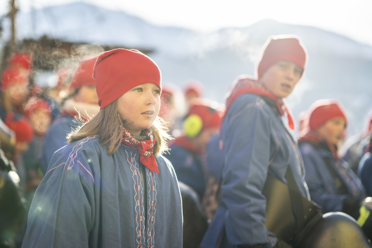
[[33,139],[33,128],[26,118],[13,120],[12,117],[7,118],[5,124],[16,133],[16,141],[26,141],[31,143]]

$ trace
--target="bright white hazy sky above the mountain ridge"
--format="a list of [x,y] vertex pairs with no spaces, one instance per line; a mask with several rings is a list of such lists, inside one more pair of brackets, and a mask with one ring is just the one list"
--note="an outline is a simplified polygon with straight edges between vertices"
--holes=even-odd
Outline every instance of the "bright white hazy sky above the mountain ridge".
[[[16,0],[28,10],[78,0]],[[84,0],[120,10],[162,26],[179,26],[202,32],[244,27],[262,19],[315,26],[372,45],[372,0]],[[2,0],[6,13],[9,0]]]

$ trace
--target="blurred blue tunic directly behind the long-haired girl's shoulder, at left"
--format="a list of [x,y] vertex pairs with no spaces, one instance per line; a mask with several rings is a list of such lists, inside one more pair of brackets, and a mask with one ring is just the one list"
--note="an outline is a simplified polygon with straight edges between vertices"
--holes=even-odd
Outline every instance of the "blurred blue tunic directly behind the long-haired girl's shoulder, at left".
[[39,164],[44,174],[47,173],[48,165],[54,152],[67,145],[66,136],[73,128],[77,128],[79,125],[81,123],[77,122],[75,117],[69,114],[60,114],[52,121],[45,134],[39,154]]

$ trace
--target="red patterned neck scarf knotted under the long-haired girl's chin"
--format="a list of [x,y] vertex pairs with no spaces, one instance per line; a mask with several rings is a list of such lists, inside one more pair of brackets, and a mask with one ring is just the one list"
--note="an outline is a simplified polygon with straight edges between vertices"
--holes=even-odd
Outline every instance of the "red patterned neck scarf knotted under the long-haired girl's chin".
[[150,138],[150,140],[138,141],[128,131],[126,131],[125,128],[123,128],[124,135],[121,144],[137,148],[138,152],[140,153],[141,163],[149,168],[149,170],[159,173],[158,165],[153,154],[156,138],[149,129],[142,132],[145,135],[148,135],[148,138]]

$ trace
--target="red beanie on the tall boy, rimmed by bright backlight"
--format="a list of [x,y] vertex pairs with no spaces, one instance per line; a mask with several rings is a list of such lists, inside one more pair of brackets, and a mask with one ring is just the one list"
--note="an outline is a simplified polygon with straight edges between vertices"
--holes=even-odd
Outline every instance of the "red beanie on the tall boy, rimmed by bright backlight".
[[281,60],[295,62],[305,69],[307,52],[305,46],[295,35],[270,36],[263,46],[261,60],[257,66],[257,77]]

